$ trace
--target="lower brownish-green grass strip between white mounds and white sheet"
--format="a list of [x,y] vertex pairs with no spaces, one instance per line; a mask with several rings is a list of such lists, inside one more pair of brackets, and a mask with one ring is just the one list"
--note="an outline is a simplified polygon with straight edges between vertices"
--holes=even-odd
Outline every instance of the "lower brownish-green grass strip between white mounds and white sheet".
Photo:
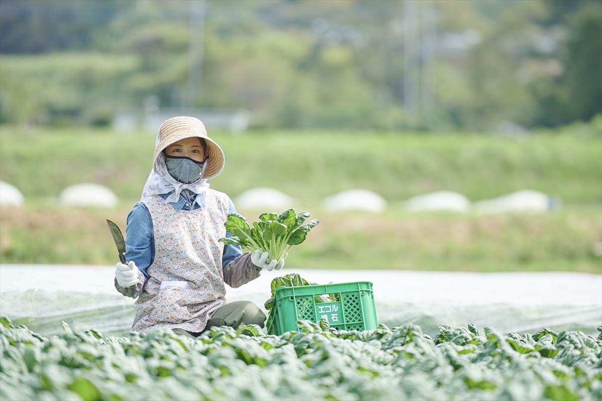
[[[105,219],[125,228],[128,210],[0,208],[0,263],[114,264]],[[255,211],[241,211],[249,221]],[[569,208],[527,216],[312,213],[320,224],[288,267],[472,272],[568,270],[602,273],[595,243],[602,212]]]

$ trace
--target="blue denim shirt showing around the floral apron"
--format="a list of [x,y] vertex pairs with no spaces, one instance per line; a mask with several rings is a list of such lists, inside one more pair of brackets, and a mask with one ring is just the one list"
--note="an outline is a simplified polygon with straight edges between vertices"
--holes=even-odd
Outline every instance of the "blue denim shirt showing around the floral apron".
[[[166,194],[160,194],[159,196],[163,197],[163,199],[167,199],[172,193],[173,191]],[[229,198],[228,202],[228,213],[236,213],[234,204]],[[205,193],[196,194],[193,204],[188,203],[184,197],[180,196],[178,202],[172,203],[172,206],[178,210],[196,210],[199,207],[204,208]],[[231,233],[226,232],[226,237],[231,236]],[[141,202],[135,204],[128,214],[127,225],[125,228],[125,247],[126,260],[134,261],[138,270],[140,270],[148,280],[149,275],[146,270],[155,260],[155,234],[152,227],[151,213],[149,213],[146,206]],[[243,251],[240,246],[226,244],[222,254],[222,268],[242,254]]]

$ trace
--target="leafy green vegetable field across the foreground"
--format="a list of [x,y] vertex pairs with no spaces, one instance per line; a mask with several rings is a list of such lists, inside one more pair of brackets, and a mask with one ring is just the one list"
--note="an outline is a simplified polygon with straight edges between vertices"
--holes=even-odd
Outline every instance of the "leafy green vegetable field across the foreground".
[[[597,400],[602,334],[501,335],[407,324],[300,332],[212,328],[192,340],[170,331],[41,337],[0,325],[2,400]],[[602,327],[598,330],[602,331]]]

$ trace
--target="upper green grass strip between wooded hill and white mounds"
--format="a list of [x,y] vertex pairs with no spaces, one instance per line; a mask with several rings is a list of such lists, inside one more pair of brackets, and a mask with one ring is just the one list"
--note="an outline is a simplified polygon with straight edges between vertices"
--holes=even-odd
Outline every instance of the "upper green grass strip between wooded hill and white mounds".
[[[32,201],[58,196],[71,184],[97,182],[129,206],[151,170],[152,134],[1,131],[0,179]],[[530,188],[566,204],[602,204],[602,137],[319,131],[212,137],[226,166],[210,183],[233,198],[249,188],[273,187],[312,205],[340,190],[365,188],[389,202],[435,190],[478,201]]]

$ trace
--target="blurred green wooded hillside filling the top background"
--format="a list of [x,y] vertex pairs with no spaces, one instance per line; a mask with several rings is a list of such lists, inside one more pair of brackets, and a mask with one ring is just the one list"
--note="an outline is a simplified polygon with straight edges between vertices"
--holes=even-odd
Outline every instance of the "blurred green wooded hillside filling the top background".
[[245,108],[259,129],[484,132],[602,112],[599,0],[418,2],[420,37],[432,13],[437,38],[420,113],[404,104],[405,2],[206,1],[191,29],[192,4],[0,0],[0,123],[108,125],[148,96]]

